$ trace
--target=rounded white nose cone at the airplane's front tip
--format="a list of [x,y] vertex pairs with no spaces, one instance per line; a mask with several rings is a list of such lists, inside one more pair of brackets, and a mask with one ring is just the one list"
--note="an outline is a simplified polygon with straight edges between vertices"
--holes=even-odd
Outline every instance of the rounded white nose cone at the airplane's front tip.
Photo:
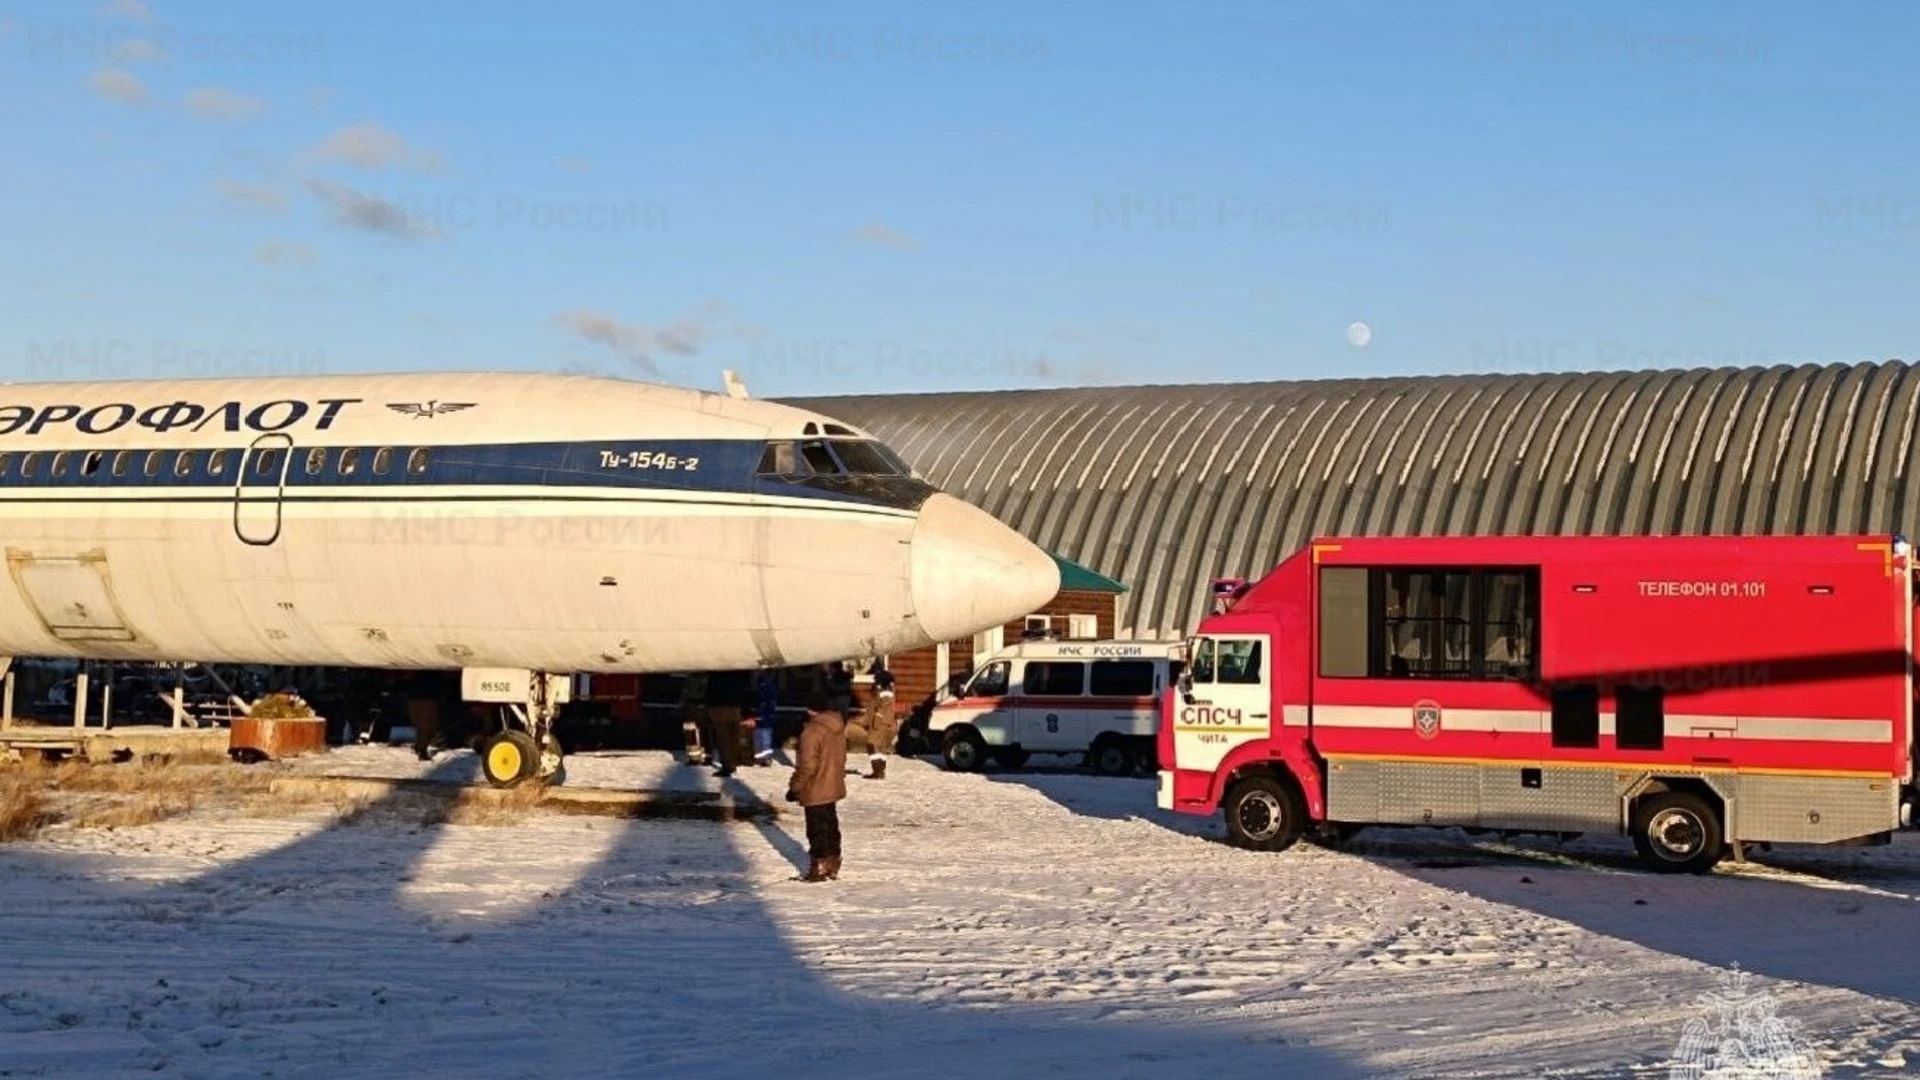
[[1039,611],[1060,592],[1060,567],[991,513],[933,496],[914,525],[912,594],[935,642],[966,638]]

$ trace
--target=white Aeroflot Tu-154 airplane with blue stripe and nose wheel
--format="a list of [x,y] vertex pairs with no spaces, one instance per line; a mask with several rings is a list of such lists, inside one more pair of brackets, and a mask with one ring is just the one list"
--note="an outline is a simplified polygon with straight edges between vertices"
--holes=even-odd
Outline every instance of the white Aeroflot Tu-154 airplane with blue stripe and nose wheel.
[[461,669],[515,717],[480,744],[495,786],[561,771],[574,673],[916,650],[1060,590],[868,432],[732,373],[0,384],[0,657]]

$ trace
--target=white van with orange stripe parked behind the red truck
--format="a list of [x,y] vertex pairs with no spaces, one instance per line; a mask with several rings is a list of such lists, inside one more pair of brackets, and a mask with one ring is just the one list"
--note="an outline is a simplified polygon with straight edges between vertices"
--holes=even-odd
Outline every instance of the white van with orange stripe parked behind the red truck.
[[1179,673],[1179,642],[1021,642],[933,705],[927,736],[960,773],[987,759],[1020,769],[1035,753],[1083,757],[1110,776],[1150,771],[1160,696]]

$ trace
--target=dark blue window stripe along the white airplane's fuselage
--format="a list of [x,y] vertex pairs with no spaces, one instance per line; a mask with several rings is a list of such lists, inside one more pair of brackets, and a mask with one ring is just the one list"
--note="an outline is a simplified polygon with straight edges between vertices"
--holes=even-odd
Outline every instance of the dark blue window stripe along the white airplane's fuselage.
[[[933,488],[908,477],[760,477],[760,440],[595,440],[595,442],[511,442],[467,446],[294,446],[286,467],[288,496],[324,494],[334,488],[382,486],[507,486],[507,488],[611,488],[630,492],[714,492],[766,494],[918,509]],[[353,471],[342,471],[342,450],[357,450]],[[384,471],[374,469],[376,454],[392,452]],[[413,471],[413,454],[426,461]],[[275,454],[284,450],[269,448]],[[119,459],[127,454],[125,459]],[[0,498],[8,492],[108,492],[129,488],[223,488],[232,490],[244,446],[202,450],[152,450],[157,469],[148,475],[150,450],[35,450],[33,477],[23,475],[29,452],[0,452]],[[179,454],[190,454],[190,469],[177,471]],[[257,454],[257,452],[255,452]],[[221,455],[219,469],[211,469]],[[56,475],[56,457],[60,471]],[[88,471],[88,465],[92,467]],[[121,475],[113,475],[123,465]],[[280,461],[261,475],[257,455],[248,459],[248,488],[273,488]]]

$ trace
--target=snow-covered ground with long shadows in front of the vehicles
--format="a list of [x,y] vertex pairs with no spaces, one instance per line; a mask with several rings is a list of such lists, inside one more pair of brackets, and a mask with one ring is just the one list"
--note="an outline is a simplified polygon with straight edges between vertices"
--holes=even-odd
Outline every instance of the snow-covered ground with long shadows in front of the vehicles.
[[[664,753],[568,782],[720,784]],[[1736,963],[1828,1076],[1920,1072],[1916,836],[1665,878],[1617,840],[1246,853],[1152,780],[849,788],[829,884],[797,813],[56,828],[0,847],[0,1076],[1667,1076]]]

